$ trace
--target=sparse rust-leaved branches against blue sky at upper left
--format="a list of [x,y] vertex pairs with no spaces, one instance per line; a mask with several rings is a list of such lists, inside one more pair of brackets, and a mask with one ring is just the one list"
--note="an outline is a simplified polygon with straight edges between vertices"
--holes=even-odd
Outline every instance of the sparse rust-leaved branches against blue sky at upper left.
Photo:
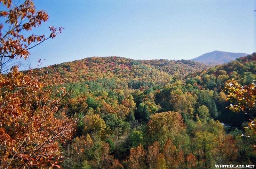
[[[5,23],[0,23],[0,73],[10,70],[8,64],[14,58],[24,58],[29,56],[29,49],[41,44],[47,39],[55,38],[61,33],[61,27],[50,26],[50,35],[29,35],[27,31],[40,26],[49,19],[46,11],[36,11],[33,1],[26,0],[20,6],[12,6],[11,0],[0,0],[0,3],[7,6],[9,11],[0,11],[0,18]],[[12,8],[11,8],[12,7]]]

